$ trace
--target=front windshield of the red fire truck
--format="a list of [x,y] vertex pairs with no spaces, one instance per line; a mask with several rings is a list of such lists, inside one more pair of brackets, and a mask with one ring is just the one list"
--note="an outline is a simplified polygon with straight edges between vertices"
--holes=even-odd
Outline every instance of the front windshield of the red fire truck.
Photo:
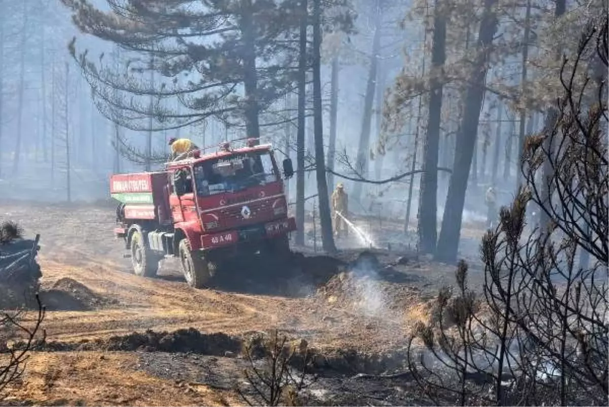
[[237,192],[278,180],[268,151],[203,161],[194,167],[194,177],[198,196]]

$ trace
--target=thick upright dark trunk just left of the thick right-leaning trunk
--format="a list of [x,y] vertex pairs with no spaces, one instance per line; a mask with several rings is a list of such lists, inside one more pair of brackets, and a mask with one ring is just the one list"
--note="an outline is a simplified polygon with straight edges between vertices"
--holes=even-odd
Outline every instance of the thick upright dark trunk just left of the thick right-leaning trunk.
[[440,113],[442,113],[442,74],[446,60],[446,17],[439,0],[435,2],[434,37],[431,54],[431,79],[427,135],[423,143],[423,172],[421,173],[418,208],[419,249],[434,253],[437,242],[438,149],[440,147]]

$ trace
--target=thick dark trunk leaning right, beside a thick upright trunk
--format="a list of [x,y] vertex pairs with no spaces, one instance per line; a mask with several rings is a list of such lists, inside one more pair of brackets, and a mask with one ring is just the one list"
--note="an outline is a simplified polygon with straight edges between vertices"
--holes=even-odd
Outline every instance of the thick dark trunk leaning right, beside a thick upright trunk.
[[451,182],[448,186],[442,230],[438,239],[435,258],[443,261],[455,261],[459,249],[463,205],[467,189],[467,179],[471,168],[471,159],[476,143],[476,133],[480,119],[482,99],[484,99],[484,82],[487,76],[487,62],[490,45],[497,31],[498,19],[492,10],[496,0],[485,0],[484,13],[480,23],[477,40],[477,55],[474,61],[470,85],[465,94],[465,109],[462,126],[457,140],[455,163]]

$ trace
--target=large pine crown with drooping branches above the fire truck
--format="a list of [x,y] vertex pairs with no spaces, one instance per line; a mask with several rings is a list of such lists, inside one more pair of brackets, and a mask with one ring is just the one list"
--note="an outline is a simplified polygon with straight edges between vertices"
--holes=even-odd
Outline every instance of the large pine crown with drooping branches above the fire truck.
[[[74,43],[70,46],[102,113],[128,129],[149,129],[141,118],[150,116],[157,121],[153,130],[213,117],[227,125],[244,122],[247,135],[258,138],[259,113],[295,81],[293,2],[158,0],[119,7],[108,0],[112,11],[104,12],[86,0],[62,1],[82,32],[134,56],[130,72],[121,75],[102,58],[94,63],[86,51],[77,55]],[[152,70],[163,76],[155,83],[142,76],[151,58]],[[152,108],[148,97],[156,100]],[[164,99],[178,99],[185,109],[178,113],[161,103]]]

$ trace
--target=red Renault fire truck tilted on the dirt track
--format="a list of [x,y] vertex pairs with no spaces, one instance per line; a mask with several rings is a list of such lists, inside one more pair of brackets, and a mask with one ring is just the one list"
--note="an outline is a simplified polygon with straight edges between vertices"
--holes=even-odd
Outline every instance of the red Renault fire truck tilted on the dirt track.
[[[283,160],[283,178],[294,175]],[[195,150],[164,171],[116,174],[111,196],[120,202],[114,234],[124,239],[125,257],[136,275],[153,277],[158,261],[178,257],[188,284],[208,286],[227,258],[270,253],[287,257],[289,233],[280,169],[270,144],[220,144]]]

